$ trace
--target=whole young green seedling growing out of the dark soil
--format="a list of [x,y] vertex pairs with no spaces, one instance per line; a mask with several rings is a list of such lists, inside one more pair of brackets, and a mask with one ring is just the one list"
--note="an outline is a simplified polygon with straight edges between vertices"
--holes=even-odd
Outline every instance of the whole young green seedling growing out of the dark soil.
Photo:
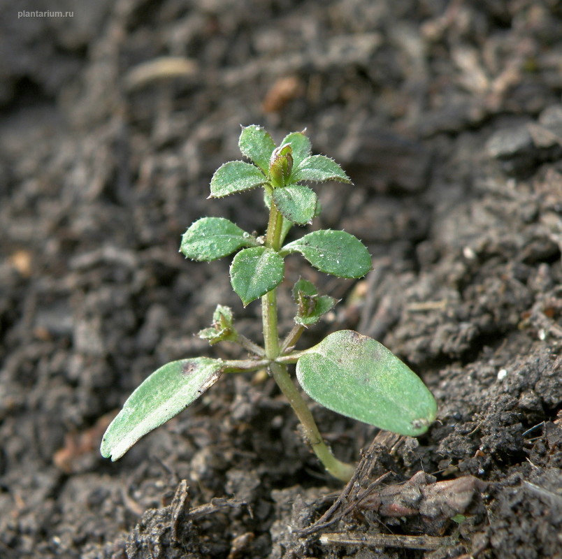
[[264,345],[238,333],[229,307],[218,305],[212,326],[199,332],[210,344],[240,344],[250,357],[225,361],[194,357],[173,361],[152,373],[132,393],[108,427],[101,453],[117,460],[143,435],[185,409],[226,373],[266,368],[301,421],[312,450],[326,470],[342,480],[354,472],[338,460],[322,440],[310,409],[296,388],[287,365],[296,363],[296,378],[312,400],[353,419],[401,435],[424,433],[435,419],[433,395],[404,363],[379,342],[350,330],[328,335],[309,349],[294,349],[308,326],[336,304],[316,287],[299,279],[293,287],[294,327],[286,337],[278,331],[277,289],[284,277],[284,257],[299,253],[321,272],[358,278],[371,269],[366,247],[345,231],[321,230],[284,244],[293,225],[319,215],[318,198],[303,182],[351,182],[335,161],[311,155],[310,140],[290,133],[279,147],[260,126],[242,129],[238,145],[250,159],[229,161],[210,182],[211,197],[262,187],[269,212],[266,234],[257,237],[222,217],[203,217],[185,232],[180,252],[189,259],[212,261],[236,252],[231,284],[243,305],[261,298]]

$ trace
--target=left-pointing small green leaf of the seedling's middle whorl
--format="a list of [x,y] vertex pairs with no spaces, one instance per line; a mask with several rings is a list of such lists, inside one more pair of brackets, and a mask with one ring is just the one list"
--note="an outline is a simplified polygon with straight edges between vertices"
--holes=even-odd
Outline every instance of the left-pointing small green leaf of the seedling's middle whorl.
[[228,256],[240,247],[257,245],[250,233],[224,217],[202,217],[185,231],[180,252],[186,258],[211,261]]

